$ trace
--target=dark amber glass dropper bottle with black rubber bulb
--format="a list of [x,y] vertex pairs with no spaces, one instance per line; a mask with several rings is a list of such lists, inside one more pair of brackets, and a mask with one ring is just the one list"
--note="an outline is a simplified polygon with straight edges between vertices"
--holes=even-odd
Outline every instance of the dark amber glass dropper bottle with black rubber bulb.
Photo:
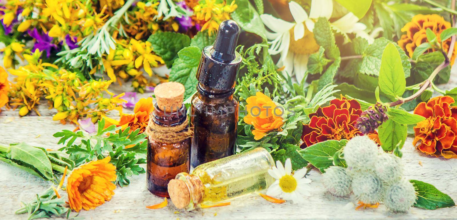
[[214,45],[202,51],[197,94],[191,100],[192,167],[234,154],[239,104],[233,93],[241,63],[235,51],[238,36],[236,22],[223,21]]

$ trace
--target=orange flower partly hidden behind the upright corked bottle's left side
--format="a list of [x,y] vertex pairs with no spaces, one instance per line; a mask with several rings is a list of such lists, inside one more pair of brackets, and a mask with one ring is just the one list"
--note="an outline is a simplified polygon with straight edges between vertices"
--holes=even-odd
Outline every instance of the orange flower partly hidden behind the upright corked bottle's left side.
[[122,127],[122,130],[130,127],[129,132],[135,131],[139,128],[142,133],[148,126],[149,114],[153,110],[154,104],[152,102],[152,97],[140,99],[137,104],[135,104],[135,108],[133,109],[134,114],[121,114],[121,119],[118,121],[105,117],[105,127],[116,125],[118,127]]

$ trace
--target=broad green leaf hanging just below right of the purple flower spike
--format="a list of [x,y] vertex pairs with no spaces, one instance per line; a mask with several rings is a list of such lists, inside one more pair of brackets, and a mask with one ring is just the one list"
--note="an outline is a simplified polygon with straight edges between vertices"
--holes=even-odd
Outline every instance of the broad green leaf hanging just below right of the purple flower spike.
[[408,135],[408,127],[389,118],[378,127],[377,132],[383,150],[393,151],[397,144],[399,144],[400,149],[403,147]]

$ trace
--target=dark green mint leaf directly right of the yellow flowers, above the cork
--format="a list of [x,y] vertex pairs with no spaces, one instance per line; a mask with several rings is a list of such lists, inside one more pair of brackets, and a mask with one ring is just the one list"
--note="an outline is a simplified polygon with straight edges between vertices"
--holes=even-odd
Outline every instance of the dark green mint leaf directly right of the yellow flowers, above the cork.
[[178,58],[178,51],[191,43],[187,35],[170,31],[157,31],[149,36],[148,41],[152,44],[152,50],[165,61],[168,68]]

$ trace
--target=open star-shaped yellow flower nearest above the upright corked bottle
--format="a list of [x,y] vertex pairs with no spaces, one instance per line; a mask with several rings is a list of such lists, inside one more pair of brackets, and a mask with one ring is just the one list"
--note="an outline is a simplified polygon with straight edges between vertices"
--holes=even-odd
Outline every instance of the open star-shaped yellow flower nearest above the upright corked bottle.
[[130,44],[133,45],[139,55],[135,59],[135,68],[140,68],[141,65],[143,65],[144,71],[146,71],[149,76],[152,76],[151,65],[157,67],[159,63],[165,63],[161,57],[153,54],[151,42],[140,42],[132,39],[130,40]]

